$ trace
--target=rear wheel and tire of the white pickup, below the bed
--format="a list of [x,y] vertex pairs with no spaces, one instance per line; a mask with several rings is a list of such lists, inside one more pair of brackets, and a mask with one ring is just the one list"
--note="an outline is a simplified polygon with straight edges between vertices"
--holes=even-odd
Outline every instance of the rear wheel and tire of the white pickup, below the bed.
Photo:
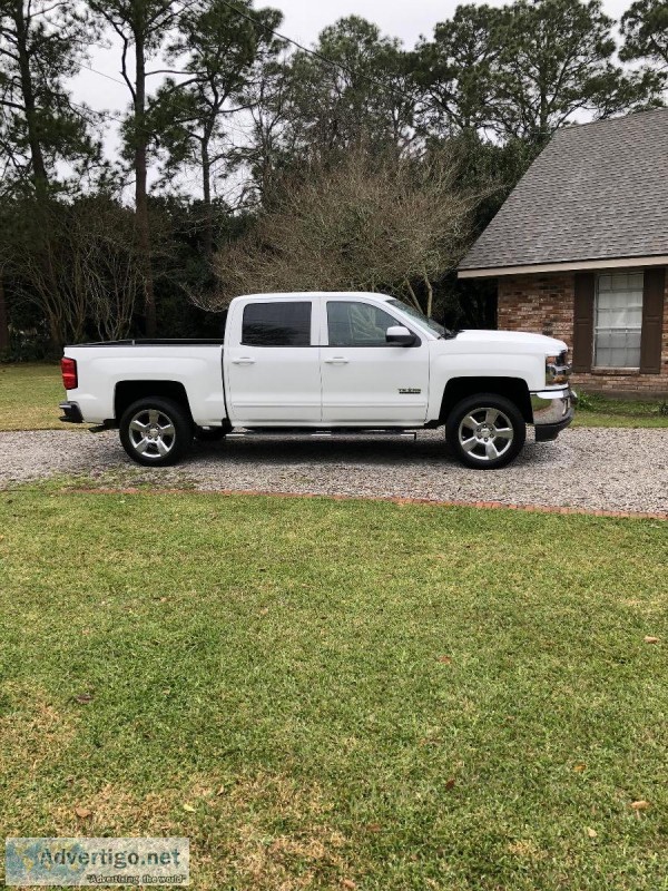
[[120,443],[138,464],[175,464],[193,444],[193,424],[178,402],[147,396],[126,409],[119,424]]

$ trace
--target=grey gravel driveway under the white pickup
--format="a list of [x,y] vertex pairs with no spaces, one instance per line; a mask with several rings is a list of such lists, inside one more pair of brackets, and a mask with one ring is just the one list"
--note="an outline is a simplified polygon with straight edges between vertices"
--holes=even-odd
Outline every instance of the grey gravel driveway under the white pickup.
[[528,442],[498,471],[455,463],[439,430],[419,433],[415,442],[274,437],[197,443],[181,464],[155,470],[134,464],[112,431],[0,433],[0,488],[55,474],[120,488],[150,482],[668,513],[668,430],[566,430],[556,442]]

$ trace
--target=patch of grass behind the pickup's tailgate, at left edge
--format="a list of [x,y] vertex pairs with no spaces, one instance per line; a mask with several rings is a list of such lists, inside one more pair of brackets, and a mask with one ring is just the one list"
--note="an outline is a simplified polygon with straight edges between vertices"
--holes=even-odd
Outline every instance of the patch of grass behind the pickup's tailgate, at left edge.
[[77,429],[58,420],[65,399],[58,364],[0,364],[0,430]]

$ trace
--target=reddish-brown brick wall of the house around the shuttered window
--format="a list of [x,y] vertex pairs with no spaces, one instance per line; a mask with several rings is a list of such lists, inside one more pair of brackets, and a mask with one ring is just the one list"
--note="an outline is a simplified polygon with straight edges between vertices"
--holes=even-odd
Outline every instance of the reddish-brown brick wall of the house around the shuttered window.
[[[504,275],[499,278],[499,327],[507,331],[534,331],[573,343],[573,273]],[[668,395],[668,275],[664,309],[661,373],[592,371],[573,374],[583,390],[610,395]]]

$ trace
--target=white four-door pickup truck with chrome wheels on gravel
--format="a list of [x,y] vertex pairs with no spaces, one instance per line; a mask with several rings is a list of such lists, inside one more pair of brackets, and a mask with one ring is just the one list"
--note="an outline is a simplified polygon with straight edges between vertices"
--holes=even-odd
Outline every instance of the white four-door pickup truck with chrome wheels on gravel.
[[480,469],[510,463],[527,425],[551,440],[573,417],[567,344],[542,334],[451,333],[376,293],[253,294],[223,341],[66,346],[63,421],[117,427],[140,464],[171,464],[194,438],[445,428]]

